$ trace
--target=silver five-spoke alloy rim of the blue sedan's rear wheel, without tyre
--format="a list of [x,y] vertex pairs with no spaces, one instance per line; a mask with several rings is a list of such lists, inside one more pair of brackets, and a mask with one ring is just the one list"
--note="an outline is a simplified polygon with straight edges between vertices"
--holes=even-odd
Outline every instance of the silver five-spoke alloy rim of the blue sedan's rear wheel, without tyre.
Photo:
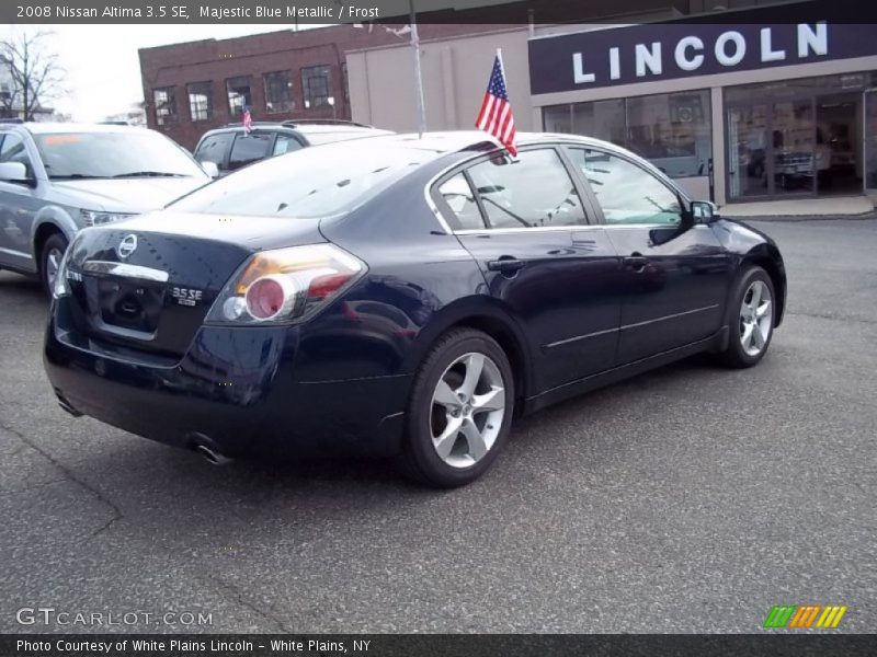
[[485,354],[464,354],[435,385],[430,413],[432,445],[452,468],[469,468],[485,458],[505,416],[505,384]]

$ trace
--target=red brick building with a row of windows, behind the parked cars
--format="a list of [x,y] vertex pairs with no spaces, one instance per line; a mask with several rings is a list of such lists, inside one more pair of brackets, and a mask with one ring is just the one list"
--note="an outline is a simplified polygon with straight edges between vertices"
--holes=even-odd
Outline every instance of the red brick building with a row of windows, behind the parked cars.
[[[208,129],[241,120],[351,118],[345,54],[409,41],[403,25],[334,25],[139,50],[150,128],[194,148]],[[496,30],[434,24],[421,38]],[[396,34],[392,31],[398,31]]]

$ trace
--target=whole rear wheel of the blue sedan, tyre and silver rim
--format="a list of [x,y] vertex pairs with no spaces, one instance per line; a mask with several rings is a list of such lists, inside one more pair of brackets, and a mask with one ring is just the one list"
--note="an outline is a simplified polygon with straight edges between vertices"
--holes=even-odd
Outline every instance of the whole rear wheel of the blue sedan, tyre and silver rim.
[[480,331],[443,336],[411,390],[406,470],[435,487],[462,486],[490,468],[514,411],[514,379],[502,348]]

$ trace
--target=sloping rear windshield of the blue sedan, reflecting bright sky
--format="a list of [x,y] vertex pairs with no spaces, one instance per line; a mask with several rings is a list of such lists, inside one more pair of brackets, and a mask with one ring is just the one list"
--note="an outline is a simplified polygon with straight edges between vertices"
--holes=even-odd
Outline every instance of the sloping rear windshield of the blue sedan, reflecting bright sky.
[[362,205],[428,157],[392,146],[306,148],[241,169],[170,207],[205,215],[329,217]]

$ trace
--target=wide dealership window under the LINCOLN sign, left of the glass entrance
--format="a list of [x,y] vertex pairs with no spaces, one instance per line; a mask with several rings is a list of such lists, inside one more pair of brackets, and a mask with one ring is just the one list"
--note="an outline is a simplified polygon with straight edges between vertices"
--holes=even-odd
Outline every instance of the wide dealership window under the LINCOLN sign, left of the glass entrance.
[[713,157],[709,92],[634,96],[545,107],[545,129],[605,139],[672,177],[707,175]]

